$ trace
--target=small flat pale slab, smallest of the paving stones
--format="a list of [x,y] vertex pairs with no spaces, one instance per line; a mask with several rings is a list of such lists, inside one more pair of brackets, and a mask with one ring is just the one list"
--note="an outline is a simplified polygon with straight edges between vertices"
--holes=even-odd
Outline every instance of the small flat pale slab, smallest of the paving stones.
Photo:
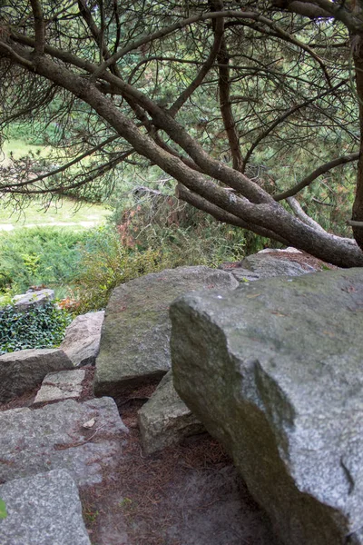
[[44,401],[63,401],[79,398],[82,393],[82,381],[85,377],[83,369],[72,371],[50,372],[44,378],[34,404]]

